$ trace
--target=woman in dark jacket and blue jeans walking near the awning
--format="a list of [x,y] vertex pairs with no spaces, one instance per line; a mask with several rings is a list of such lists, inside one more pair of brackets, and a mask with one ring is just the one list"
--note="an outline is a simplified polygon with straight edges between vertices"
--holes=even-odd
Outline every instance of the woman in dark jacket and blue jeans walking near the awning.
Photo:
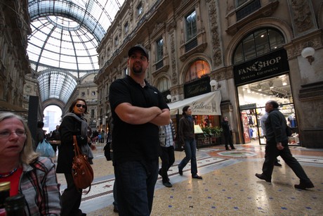
[[192,118],[192,108],[183,107],[183,117],[180,118],[178,127],[178,138],[181,146],[184,146],[185,158],[178,165],[178,173],[183,175],[183,168],[191,161],[191,174],[193,179],[202,179],[197,174],[197,143],[194,133],[194,121]]

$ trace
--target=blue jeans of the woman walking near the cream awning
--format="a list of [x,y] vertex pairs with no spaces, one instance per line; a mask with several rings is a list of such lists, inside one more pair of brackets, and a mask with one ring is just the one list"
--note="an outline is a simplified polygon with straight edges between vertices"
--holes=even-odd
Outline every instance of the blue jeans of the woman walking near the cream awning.
[[178,169],[183,170],[191,161],[191,173],[192,176],[195,176],[197,174],[197,143],[195,139],[185,139],[184,150],[185,158],[178,165]]

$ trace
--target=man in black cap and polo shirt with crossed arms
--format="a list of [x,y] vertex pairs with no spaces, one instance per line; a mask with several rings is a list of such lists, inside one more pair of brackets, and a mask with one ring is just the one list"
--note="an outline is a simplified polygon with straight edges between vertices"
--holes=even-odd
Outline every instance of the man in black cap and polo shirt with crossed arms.
[[128,51],[130,75],[110,85],[113,163],[119,215],[150,215],[159,167],[159,126],[169,107],[146,80],[149,56],[141,46]]

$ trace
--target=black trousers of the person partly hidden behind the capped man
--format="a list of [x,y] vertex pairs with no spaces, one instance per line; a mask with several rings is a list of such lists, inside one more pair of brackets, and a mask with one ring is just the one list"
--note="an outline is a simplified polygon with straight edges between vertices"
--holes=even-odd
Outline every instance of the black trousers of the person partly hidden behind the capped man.
[[167,172],[173,163],[175,162],[175,155],[174,155],[174,146],[163,147],[161,146],[162,151],[160,154],[160,159],[162,159],[162,178],[163,183],[169,182],[169,175]]

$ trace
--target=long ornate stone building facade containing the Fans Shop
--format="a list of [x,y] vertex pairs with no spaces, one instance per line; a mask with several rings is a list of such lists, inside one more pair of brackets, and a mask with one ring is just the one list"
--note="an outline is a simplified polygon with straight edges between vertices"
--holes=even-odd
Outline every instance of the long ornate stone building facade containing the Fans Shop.
[[109,86],[127,74],[128,49],[143,44],[146,79],[170,106],[215,80],[221,114],[197,124],[227,116],[235,143],[262,144],[258,120],[274,99],[294,128],[290,144],[322,148],[322,12],[322,1],[305,0],[126,1],[98,47],[98,115],[110,113]]

